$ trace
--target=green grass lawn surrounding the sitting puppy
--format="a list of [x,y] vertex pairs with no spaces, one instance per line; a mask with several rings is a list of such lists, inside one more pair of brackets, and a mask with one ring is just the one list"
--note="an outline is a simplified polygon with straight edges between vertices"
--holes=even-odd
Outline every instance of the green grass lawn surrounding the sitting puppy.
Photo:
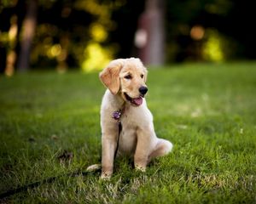
[[147,99],[172,153],[146,173],[121,158],[110,181],[70,175],[100,160],[96,73],[0,77],[0,194],[61,175],[0,202],[255,203],[256,63],[167,68],[149,70]]

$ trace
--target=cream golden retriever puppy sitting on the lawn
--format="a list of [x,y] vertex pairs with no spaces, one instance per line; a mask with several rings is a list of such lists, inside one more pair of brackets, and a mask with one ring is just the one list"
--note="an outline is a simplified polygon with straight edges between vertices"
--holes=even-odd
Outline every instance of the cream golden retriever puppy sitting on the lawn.
[[149,161],[172,150],[170,141],[154,133],[153,116],[144,98],[148,92],[147,75],[137,58],[114,59],[99,74],[108,88],[101,106],[101,178],[111,178],[115,155],[133,156],[135,168],[145,172]]

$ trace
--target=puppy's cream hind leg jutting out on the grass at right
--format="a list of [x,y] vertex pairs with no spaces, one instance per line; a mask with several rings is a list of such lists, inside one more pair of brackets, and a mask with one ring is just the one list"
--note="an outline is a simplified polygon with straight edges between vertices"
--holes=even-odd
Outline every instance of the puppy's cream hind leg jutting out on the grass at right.
[[148,156],[148,162],[159,156],[165,156],[172,151],[172,143],[166,139],[159,139],[153,152]]

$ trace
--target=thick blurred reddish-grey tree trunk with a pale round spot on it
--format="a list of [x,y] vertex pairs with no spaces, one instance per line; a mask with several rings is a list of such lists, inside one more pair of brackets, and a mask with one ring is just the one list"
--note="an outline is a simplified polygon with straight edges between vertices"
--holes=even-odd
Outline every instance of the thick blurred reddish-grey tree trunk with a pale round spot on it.
[[164,0],[147,0],[145,12],[139,18],[136,45],[145,65],[164,64],[164,10]]

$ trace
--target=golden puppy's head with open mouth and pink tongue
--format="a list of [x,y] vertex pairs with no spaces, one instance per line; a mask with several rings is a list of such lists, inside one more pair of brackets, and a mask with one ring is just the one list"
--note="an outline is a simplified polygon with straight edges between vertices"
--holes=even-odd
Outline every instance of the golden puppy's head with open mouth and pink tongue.
[[140,59],[115,59],[100,73],[100,79],[112,94],[120,94],[131,105],[142,105],[148,92],[147,69]]

